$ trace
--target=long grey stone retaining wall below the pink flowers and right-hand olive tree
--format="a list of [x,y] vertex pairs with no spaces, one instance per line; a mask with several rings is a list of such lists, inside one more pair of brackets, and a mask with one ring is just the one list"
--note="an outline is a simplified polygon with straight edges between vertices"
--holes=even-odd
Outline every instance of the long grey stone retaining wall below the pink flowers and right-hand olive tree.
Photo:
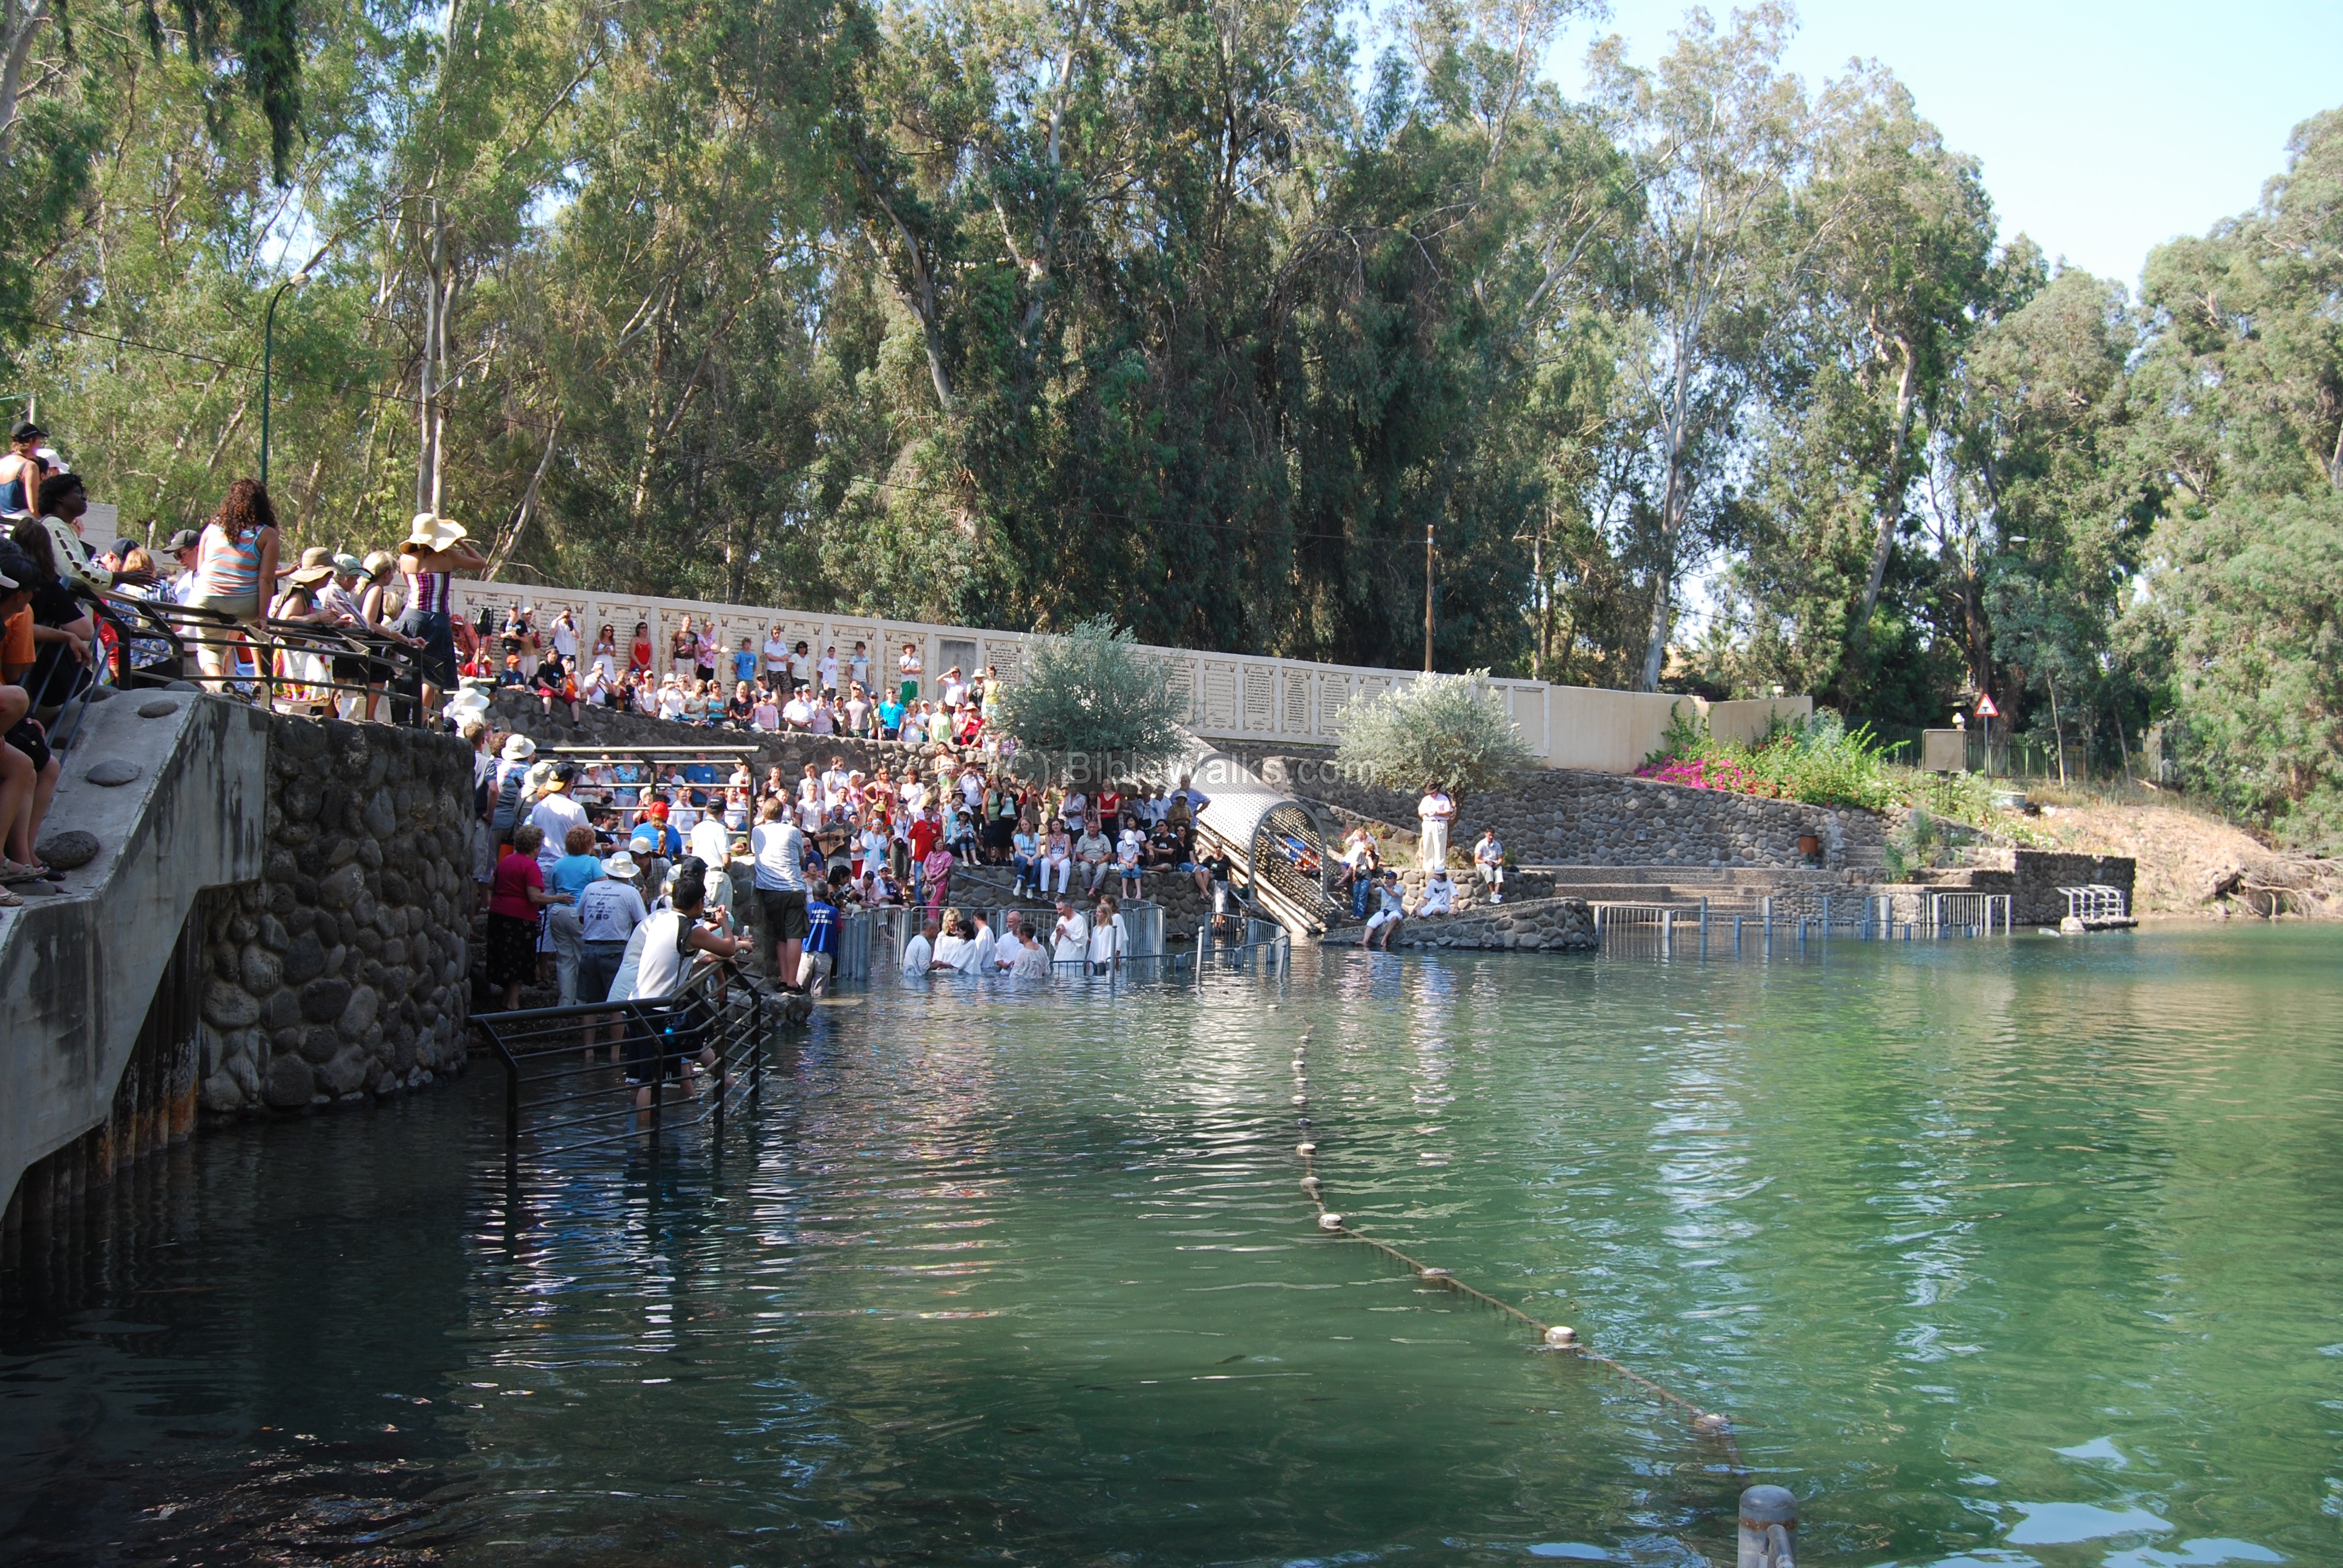
[[[1343,778],[1324,757],[1265,755],[1261,778],[1305,799],[1415,832],[1415,795]],[[1469,858],[1497,827],[1525,865],[1797,865],[1799,834],[1823,841],[1832,867],[1879,865],[1886,820],[1874,811],[1804,806],[1652,778],[1537,769],[1511,790],[1467,797],[1448,837]]]

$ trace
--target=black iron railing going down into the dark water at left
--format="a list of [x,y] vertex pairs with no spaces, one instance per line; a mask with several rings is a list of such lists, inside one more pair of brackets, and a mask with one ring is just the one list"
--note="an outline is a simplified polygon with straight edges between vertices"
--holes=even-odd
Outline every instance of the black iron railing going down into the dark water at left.
[[[504,1066],[504,1137],[595,1148],[722,1123],[761,1092],[766,1005],[733,963],[701,961],[665,1001],[476,1013]],[[703,1066],[703,1052],[715,1062]],[[649,1104],[637,1104],[649,1088]]]

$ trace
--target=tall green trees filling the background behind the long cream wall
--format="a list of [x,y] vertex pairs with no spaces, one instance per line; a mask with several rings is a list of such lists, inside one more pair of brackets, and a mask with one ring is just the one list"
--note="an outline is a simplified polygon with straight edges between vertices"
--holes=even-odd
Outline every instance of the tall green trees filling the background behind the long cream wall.
[[2231,558],[2334,527],[2343,108],[2134,298],[1999,237],[1886,70],[1788,73],[1792,28],[16,7],[0,349],[138,537],[258,469],[281,291],[295,544],[429,506],[520,581],[1408,668],[1429,609],[1443,670],[2163,727],[2329,839],[2320,682],[2275,680],[2317,593]]

